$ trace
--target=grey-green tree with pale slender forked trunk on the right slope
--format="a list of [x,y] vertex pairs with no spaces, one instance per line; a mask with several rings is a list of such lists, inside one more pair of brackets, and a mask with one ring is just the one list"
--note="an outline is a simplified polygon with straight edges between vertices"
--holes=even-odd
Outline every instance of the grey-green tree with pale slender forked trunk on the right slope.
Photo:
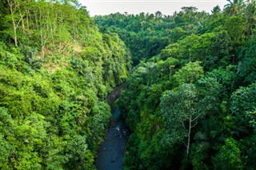
[[213,107],[214,100],[211,96],[199,99],[198,90],[193,84],[183,84],[177,89],[167,91],[160,104],[167,130],[164,143],[173,145],[182,142],[186,146],[188,158],[192,128]]

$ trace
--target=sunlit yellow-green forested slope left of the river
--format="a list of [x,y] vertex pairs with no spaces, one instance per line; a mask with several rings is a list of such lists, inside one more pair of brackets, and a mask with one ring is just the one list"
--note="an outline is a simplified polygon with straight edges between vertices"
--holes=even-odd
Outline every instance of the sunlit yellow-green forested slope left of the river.
[[106,95],[129,67],[78,2],[2,0],[0,169],[94,169]]

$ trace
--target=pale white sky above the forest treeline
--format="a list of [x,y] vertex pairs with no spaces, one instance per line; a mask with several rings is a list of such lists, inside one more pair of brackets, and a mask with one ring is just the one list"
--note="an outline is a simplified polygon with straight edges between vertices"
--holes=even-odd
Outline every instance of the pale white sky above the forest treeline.
[[196,6],[199,11],[205,10],[210,13],[214,6],[218,5],[223,9],[228,3],[226,0],[79,0],[79,2],[87,7],[90,16],[117,12],[154,14],[158,10],[162,14],[172,15],[174,11],[180,11],[183,6]]

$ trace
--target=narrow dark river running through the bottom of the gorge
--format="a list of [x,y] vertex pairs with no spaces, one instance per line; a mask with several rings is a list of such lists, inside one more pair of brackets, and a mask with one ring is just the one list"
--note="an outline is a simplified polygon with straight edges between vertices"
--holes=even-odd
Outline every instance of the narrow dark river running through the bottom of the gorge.
[[95,161],[98,170],[119,170],[126,156],[126,143],[129,130],[121,117],[119,109],[114,108],[114,101],[119,97],[124,85],[120,85],[107,97],[111,107],[112,118],[110,126],[104,137],[101,148],[98,150],[98,158]]

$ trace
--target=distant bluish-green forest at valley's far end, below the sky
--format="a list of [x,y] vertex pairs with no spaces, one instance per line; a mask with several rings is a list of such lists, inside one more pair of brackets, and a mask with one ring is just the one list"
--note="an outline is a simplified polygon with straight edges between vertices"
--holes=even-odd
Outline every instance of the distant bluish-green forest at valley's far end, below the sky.
[[[117,33],[132,53],[134,65],[143,58],[160,53],[166,45],[177,42],[186,35],[196,33],[206,13],[196,10],[182,10],[177,16],[155,14],[110,14],[96,16],[94,21],[104,33]],[[179,20],[179,21],[178,21]],[[190,26],[186,26],[190,22]]]

